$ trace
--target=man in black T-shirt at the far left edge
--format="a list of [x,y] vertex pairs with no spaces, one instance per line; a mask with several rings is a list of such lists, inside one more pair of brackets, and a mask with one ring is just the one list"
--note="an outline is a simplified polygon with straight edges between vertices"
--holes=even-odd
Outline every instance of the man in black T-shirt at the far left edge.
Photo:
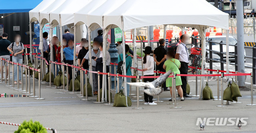
[[[9,40],[7,40],[8,38],[8,34],[7,33],[3,33],[2,34],[2,39],[0,40],[0,58],[5,59],[10,61],[10,52],[7,50],[8,46],[11,44],[11,42]],[[4,65],[5,65],[5,61],[2,61],[2,67],[0,68],[1,71],[1,76],[2,76],[2,80],[4,80],[4,75],[2,73],[2,70],[4,70]],[[6,63],[6,65],[8,66],[8,64]],[[6,68],[6,74],[8,77],[8,67]],[[6,78],[7,78],[6,77]],[[8,78],[7,78],[8,80]]]

